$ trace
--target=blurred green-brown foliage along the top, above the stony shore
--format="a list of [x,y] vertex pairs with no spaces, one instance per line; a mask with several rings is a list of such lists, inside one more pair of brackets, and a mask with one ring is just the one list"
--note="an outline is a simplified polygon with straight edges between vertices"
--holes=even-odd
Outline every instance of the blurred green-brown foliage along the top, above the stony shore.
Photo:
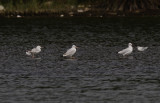
[[160,9],[160,0],[0,0],[6,11],[69,11],[78,5],[92,5],[106,11]]

